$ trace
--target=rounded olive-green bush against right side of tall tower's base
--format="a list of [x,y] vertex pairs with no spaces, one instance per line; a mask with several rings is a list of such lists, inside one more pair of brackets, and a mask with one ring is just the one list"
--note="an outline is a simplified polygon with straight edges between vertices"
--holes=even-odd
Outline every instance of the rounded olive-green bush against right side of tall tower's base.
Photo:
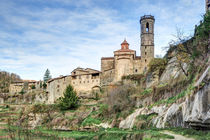
[[165,70],[167,65],[167,60],[165,58],[154,58],[149,63],[149,72],[158,72],[160,77]]

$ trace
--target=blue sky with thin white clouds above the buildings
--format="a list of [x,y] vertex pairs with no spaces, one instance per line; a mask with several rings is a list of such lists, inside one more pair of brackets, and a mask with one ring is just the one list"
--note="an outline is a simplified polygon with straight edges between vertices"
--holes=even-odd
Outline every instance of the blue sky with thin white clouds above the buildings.
[[100,70],[126,38],[140,55],[143,15],[155,16],[155,55],[176,30],[193,35],[205,0],[0,0],[0,70],[22,79],[69,75],[77,67]]

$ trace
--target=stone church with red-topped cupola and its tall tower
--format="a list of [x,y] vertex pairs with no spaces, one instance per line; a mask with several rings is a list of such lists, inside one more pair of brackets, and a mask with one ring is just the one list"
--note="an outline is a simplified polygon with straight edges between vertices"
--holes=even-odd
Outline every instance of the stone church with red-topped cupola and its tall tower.
[[101,58],[101,85],[108,85],[121,80],[122,76],[141,74],[147,70],[154,58],[154,16],[145,15],[140,19],[141,56],[129,48],[124,40],[121,49],[114,51],[114,57]]

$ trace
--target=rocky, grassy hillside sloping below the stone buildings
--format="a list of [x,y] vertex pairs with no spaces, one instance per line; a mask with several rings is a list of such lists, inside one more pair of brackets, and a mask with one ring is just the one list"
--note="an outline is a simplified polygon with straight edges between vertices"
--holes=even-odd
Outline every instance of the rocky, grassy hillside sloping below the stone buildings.
[[166,56],[153,59],[147,72],[102,87],[97,98],[78,99],[68,87],[57,104],[2,110],[19,112],[10,122],[16,127],[8,126],[15,136],[27,132],[55,138],[153,140],[173,139],[164,134],[173,131],[185,139],[208,140],[208,131],[196,129],[210,130],[209,65],[210,12],[192,38],[178,33]]

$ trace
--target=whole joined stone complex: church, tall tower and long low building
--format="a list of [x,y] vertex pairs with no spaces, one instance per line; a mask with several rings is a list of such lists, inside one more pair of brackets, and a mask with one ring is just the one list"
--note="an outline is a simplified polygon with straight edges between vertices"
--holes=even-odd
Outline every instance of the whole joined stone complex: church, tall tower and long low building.
[[101,71],[91,68],[76,68],[71,75],[60,76],[47,82],[49,102],[54,103],[63,96],[68,85],[72,85],[80,97],[85,94],[99,92],[100,87],[114,84],[122,76],[141,74],[147,70],[148,64],[154,58],[154,23],[151,15],[140,19],[141,25],[141,56],[136,56],[136,51],[129,48],[129,43],[124,40],[121,48],[114,51],[113,57],[101,58]]

